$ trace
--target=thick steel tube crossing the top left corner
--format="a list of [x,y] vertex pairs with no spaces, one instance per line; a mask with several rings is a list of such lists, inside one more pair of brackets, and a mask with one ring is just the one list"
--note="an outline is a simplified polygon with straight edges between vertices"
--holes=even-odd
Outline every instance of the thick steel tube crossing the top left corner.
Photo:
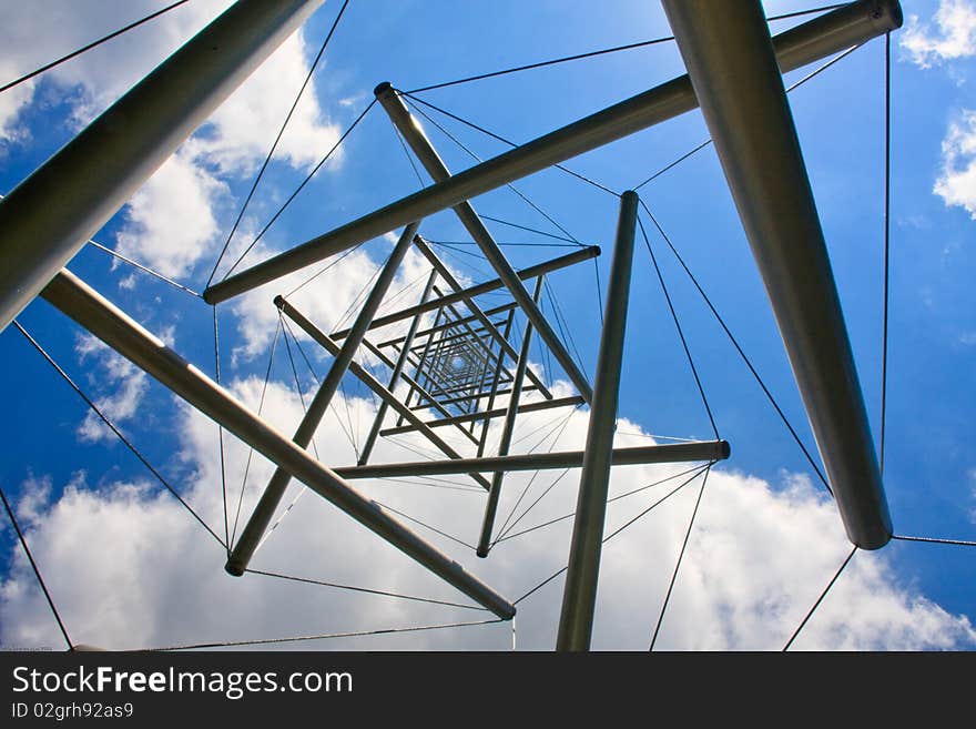
[[241,0],[0,202],[0,331],[323,0]]

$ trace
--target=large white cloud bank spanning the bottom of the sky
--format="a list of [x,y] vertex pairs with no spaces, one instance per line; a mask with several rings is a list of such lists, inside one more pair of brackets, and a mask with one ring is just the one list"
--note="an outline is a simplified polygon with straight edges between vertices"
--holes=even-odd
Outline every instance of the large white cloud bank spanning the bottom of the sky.
[[[256,408],[262,384],[250,378],[236,383],[234,389]],[[372,405],[362,399],[348,405],[360,429],[368,427]],[[345,403],[339,402],[338,407],[344,408]],[[289,433],[301,408],[287,387],[272,383],[265,415]],[[538,427],[547,417],[551,415],[533,414],[517,437]],[[216,428],[189,408],[181,408],[179,425],[182,455],[193,467],[193,475],[185,479],[182,490],[222,533]],[[622,423],[621,429],[634,432],[637,426]],[[578,447],[584,433],[586,417],[578,414],[559,447]],[[648,441],[621,436],[619,442],[632,445]],[[332,415],[327,416],[317,443],[325,463],[342,465],[352,460],[350,449]],[[531,438],[522,447],[530,444]],[[410,457],[387,441],[380,444],[375,459],[403,459],[405,454]],[[245,457],[243,446],[231,438],[227,463],[232,524]],[[611,493],[621,494],[677,470],[650,466],[616,470]],[[255,458],[242,509],[245,518],[270,473],[271,465]],[[518,528],[569,513],[575,502],[575,473],[563,478]],[[553,477],[555,474],[541,476],[529,498]],[[501,517],[528,479],[527,474],[509,475],[499,510]],[[689,485],[606,545],[594,647],[647,648],[697,486]],[[484,508],[484,496],[477,492],[380,482],[357,482],[356,487],[368,497],[451,535],[476,539]],[[622,525],[671,487],[655,486],[612,503],[608,529]],[[279,513],[298,490],[293,484]],[[258,575],[228,577],[222,570],[223,548],[169,495],[138,483],[114,484],[100,490],[75,483],[44,508],[33,508],[40,516],[30,526],[28,539],[77,641],[114,648],[167,646],[429,625],[485,616]],[[500,543],[487,560],[475,558],[467,549],[423,527],[411,528],[504,595],[515,598],[565,564],[571,522]],[[781,648],[848,548],[833,504],[816,493],[807,479],[789,477],[774,487],[734,472],[713,472],[658,648]],[[651,563],[649,555],[653,555]],[[256,556],[254,567],[466,601],[315,495],[306,496],[289,513]],[[521,648],[552,647],[561,589],[561,579],[553,580],[519,605]],[[57,628],[21,557],[14,558],[10,577],[0,587],[0,616],[4,644],[59,645]],[[509,630],[507,625],[487,626],[313,642],[305,647],[506,649],[510,645]],[[911,587],[899,587],[884,555],[867,553],[855,556],[795,644],[796,649],[974,646],[976,632],[965,617],[946,612]]]

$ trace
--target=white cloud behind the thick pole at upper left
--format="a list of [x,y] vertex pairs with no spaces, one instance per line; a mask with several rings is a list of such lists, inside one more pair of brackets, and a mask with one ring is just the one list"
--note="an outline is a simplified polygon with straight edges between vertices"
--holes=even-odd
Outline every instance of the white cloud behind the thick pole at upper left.
[[[51,70],[42,78],[63,99],[69,99],[69,91],[80,91],[71,97],[71,119],[65,124],[72,131],[80,129],[228,4],[228,0],[189,3]],[[149,0],[129,2],[122,19],[112,3],[37,0],[31,12],[7,3],[0,7],[4,48],[0,79],[32,70],[157,8]],[[120,251],[169,276],[185,276],[199,262],[213,259],[221,226],[226,224],[222,217],[236,213],[221,178],[250,178],[256,172],[308,72],[309,58],[299,30],[214,112],[133,198],[118,237]],[[0,95],[0,143],[29,135],[20,114],[34,101],[35,88],[31,82]],[[275,159],[308,170],[338,134],[312,83]],[[329,166],[340,162],[340,154],[333,155]]]

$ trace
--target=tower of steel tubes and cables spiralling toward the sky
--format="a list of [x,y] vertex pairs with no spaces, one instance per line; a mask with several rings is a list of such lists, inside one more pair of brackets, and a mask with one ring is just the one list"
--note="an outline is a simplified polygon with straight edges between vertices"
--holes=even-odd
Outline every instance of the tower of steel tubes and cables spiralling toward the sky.
[[[726,458],[722,441],[613,448],[623,338],[630,300],[638,196],[626,192],[609,273],[598,366],[592,383],[542,313],[545,276],[599,255],[586,247],[516,271],[470,200],[583,152],[701,107],[715,142],[776,316],[800,392],[851,541],[876,549],[892,535],[863,396],[781,74],[898,28],[894,0],[858,0],[770,37],[758,0],[715,3],[663,0],[688,75],[623,100],[480,164],[451,174],[423,126],[389,83],[376,88],[389,115],[434,184],[303,242],[204,292],[216,305],[312,263],[403,229],[354,324],[324,332],[278,296],[275,304],[333,360],[293,436],[275,431],[63,266],[193,130],[322,0],[238,0],[115,102],[70,144],[0,202],[0,327],[40,295],[110,347],[276,466],[226,569],[241,575],[292,478],[352,516],[502,619],[515,606],[438,551],[350,482],[382,475],[456,474],[487,492],[477,554],[488,555],[505,475],[520,469],[581,468],[558,648],[590,645],[611,467]],[[496,279],[465,287],[420,235],[424,219],[453,210]],[[415,247],[431,273],[419,304],[378,317],[404,256]],[[502,291],[510,301],[479,296]],[[425,315],[434,315],[425,325]],[[515,322],[522,317],[521,337]],[[370,332],[408,322],[406,334],[372,341]],[[535,338],[576,394],[555,397],[529,366]],[[380,381],[357,361],[388,368]],[[347,374],[382,406],[355,466],[333,467],[306,452]],[[401,393],[405,393],[403,395]],[[527,395],[532,395],[531,402]],[[505,398],[505,405],[500,405]],[[588,405],[581,452],[512,454],[521,413]],[[392,412],[392,413],[390,413]],[[396,416],[394,423],[389,415]],[[501,423],[489,449],[489,426]],[[469,442],[465,454],[438,433]],[[443,454],[435,462],[369,463],[378,438],[416,433]]]

